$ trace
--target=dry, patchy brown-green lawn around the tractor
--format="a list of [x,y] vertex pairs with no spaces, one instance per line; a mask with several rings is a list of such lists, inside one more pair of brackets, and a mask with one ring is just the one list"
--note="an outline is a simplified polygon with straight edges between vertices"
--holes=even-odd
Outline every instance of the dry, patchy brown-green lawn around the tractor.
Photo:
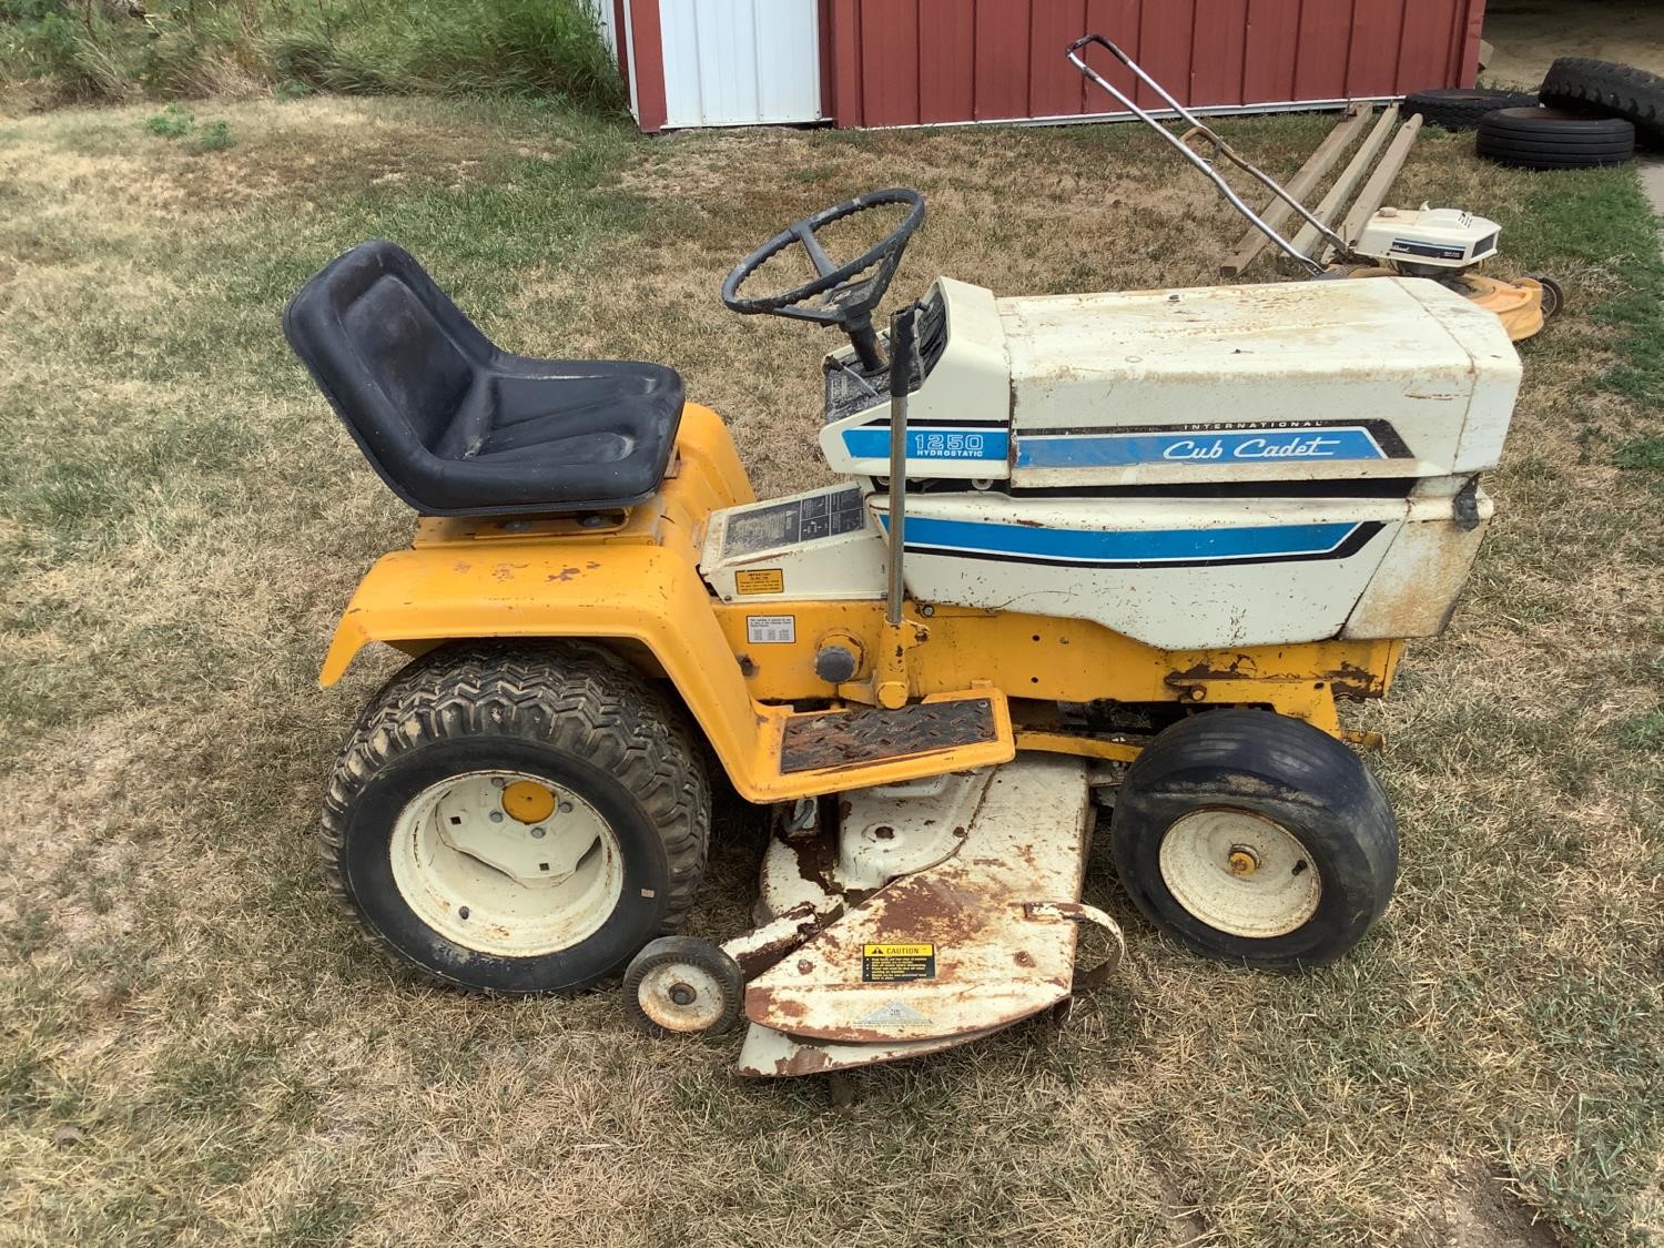
[[[389,236],[526,354],[674,364],[760,493],[824,481],[830,336],[722,311],[789,220],[905,183],[897,291],[1203,285],[1240,233],[1133,128],[641,140],[378,98],[0,120],[0,1243],[1619,1245],[1664,1233],[1664,263],[1629,170],[1399,201],[1561,278],[1451,631],[1351,724],[1399,814],[1376,934],[1283,977],[1193,958],[1093,855],[1113,983],[925,1062],[742,1083],[732,1038],[394,967],[324,895],[323,777],[391,671],[314,682],[408,541],[283,301]],[[223,123],[223,125],[215,125]],[[1291,171],[1325,118],[1243,120]],[[1266,270],[1268,275],[1268,270]],[[740,929],[732,812],[699,935]]]

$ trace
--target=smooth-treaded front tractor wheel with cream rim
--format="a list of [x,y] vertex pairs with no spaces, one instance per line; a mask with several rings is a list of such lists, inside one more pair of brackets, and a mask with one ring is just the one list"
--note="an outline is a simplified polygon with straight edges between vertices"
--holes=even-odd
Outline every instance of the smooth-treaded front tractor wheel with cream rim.
[[1255,967],[1335,962],[1398,879],[1393,812],[1363,760],[1270,711],[1210,711],[1161,732],[1128,769],[1110,834],[1150,922]]

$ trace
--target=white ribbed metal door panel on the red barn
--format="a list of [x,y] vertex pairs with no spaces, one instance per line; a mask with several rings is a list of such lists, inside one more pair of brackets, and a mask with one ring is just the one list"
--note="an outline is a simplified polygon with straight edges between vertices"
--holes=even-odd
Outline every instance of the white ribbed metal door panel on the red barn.
[[820,120],[819,0],[659,0],[667,126]]

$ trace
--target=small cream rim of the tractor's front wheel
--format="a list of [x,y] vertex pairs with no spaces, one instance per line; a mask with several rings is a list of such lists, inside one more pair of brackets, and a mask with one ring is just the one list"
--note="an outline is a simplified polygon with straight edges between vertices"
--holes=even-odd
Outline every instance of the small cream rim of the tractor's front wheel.
[[1236,937],[1288,935],[1323,895],[1306,847],[1251,810],[1215,807],[1178,819],[1161,837],[1160,867],[1180,905]]

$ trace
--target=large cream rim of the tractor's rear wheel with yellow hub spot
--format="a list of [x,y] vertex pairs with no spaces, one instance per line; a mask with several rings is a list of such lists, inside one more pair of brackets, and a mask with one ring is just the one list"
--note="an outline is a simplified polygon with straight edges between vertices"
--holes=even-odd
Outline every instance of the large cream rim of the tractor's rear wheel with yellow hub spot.
[[[547,815],[527,819],[513,802],[511,812],[504,790],[532,794],[532,809],[546,805]],[[571,948],[624,894],[624,855],[607,820],[571,789],[526,772],[463,772],[429,785],[399,812],[389,854],[416,917],[479,953]]]

